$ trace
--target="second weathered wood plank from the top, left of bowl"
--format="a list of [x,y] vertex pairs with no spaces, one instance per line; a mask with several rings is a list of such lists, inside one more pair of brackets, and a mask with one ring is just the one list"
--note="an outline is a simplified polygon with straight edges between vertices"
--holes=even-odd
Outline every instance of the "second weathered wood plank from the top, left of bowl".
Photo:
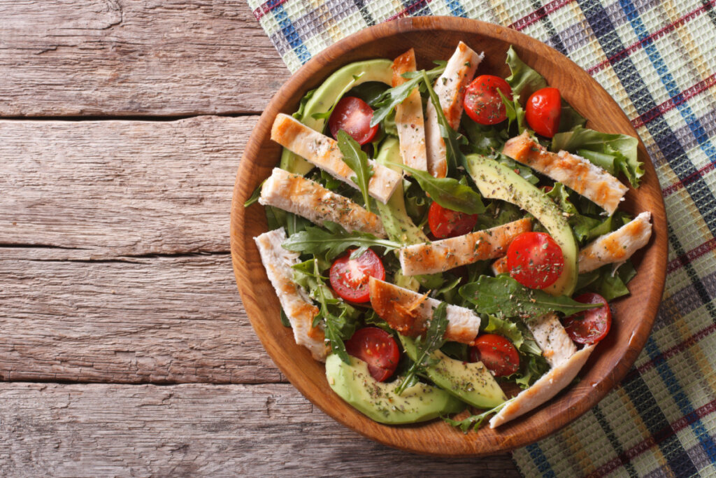
[[255,123],[0,120],[0,244],[83,249],[74,259],[226,252]]

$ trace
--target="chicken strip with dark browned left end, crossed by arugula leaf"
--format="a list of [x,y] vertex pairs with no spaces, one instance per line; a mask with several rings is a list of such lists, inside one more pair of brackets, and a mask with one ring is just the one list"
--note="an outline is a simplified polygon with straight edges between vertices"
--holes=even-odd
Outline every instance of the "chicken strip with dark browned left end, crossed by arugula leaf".
[[[440,300],[431,299],[427,294],[421,295],[375,277],[370,278],[368,286],[370,303],[377,315],[407,337],[425,333],[426,322],[432,317],[432,311],[440,305]],[[458,305],[448,305],[447,315],[445,340],[472,343],[480,331],[480,317]]]

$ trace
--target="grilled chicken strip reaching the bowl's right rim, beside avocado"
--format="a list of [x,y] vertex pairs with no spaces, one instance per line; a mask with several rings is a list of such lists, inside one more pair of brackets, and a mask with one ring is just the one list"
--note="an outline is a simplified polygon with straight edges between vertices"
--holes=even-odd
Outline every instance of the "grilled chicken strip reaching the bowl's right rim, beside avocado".
[[579,251],[579,273],[599,269],[604,264],[624,262],[647,245],[652,236],[652,213],[642,212],[629,224],[604,234]]

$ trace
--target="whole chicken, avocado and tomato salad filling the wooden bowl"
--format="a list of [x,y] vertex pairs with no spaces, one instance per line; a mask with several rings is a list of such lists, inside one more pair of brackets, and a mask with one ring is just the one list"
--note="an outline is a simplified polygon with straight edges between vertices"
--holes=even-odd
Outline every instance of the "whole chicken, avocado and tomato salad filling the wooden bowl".
[[280,166],[246,201],[283,324],[382,423],[468,431],[551,398],[649,239],[648,216],[614,211],[614,176],[644,175],[637,139],[586,128],[513,48],[504,79],[473,79],[481,59],[460,43],[432,70],[412,50],[338,70],[276,119]]

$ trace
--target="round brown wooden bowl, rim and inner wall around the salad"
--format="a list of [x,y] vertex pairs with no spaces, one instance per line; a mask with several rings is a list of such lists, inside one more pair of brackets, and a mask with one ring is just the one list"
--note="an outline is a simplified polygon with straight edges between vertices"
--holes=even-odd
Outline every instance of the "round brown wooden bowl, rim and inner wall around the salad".
[[395,58],[415,48],[418,67],[448,59],[463,40],[485,59],[478,74],[509,75],[505,52],[513,45],[520,58],[557,87],[589,119],[588,127],[637,136],[627,116],[604,89],[574,62],[536,39],[511,29],[455,17],[415,17],[379,24],[325,49],[293,75],[269,102],[248,140],[236,176],[231,204],[231,256],[238,290],[258,338],[281,371],[316,406],[370,439],[399,449],[445,457],[486,455],[515,449],[552,434],[594,406],[627,373],[647,340],[664,287],[667,228],[664,202],[654,166],[639,142],[646,174],[638,191],[630,190],[622,209],[651,211],[654,234],[634,257],[639,271],[629,283],[632,295],[613,304],[614,325],[581,373],[581,381],[531,414],[500,426],[463,434],[440,420],[410,426],[377,424],[342,401],[326,383],[324,365],[294,343],[280,320],[279,300],[258,256],[253,237],[267,230],[263,207],[243,202],[279,161],[281,148],[270,138],[277,113],[293,113],[304,93],[349,62]]

